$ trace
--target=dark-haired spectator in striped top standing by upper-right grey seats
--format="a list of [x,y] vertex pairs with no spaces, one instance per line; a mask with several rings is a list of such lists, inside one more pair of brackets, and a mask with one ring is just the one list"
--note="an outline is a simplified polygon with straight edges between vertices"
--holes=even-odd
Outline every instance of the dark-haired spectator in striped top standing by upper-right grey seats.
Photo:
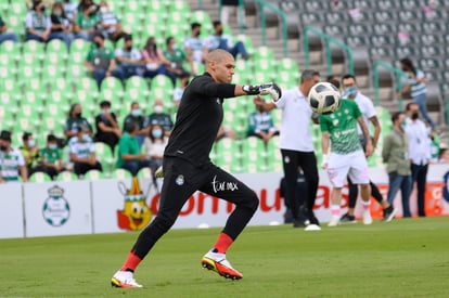
[[399,96],[411,93],[413,102],[420,107],[421,115],[424,117],[424,120],[427,121],[433,130],[436,130],[436,124],[432,120],[427,112],[427,88],[425,83],[427,78],[421,69],[414,67],[413,62],[410,59],[400,60],[400,68],[407,74],[407,82],[403,89],[399,92]]

